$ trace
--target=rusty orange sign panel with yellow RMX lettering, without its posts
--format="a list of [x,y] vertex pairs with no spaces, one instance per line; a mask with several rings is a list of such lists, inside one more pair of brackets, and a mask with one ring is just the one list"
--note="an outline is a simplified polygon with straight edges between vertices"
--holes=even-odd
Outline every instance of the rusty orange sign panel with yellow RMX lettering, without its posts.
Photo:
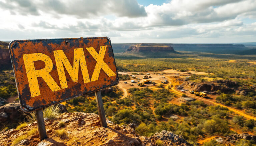
[[108,37],[15,40],[9,50],[24,112],[119,82]]

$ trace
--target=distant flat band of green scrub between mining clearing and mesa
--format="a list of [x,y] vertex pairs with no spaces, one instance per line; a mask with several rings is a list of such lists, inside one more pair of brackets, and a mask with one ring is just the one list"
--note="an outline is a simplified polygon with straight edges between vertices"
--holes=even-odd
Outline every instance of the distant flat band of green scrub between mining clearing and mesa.
[[[118,71],[124,72],[147,72],[162,71],[166,69],[177,69],[179,71],[198,71],[213,73],[208,77],[230,78],[240,83],[256,83],[256,64],[249,63],[250,60],[236,60],[228,62],[228,59],[215,58],[151,58],[136,60],[117,59]],[[134,64],[138,64],[134,66]],[[240,80],[241,79],[241,80]],[[247,79],[247,80],[244,80]]]

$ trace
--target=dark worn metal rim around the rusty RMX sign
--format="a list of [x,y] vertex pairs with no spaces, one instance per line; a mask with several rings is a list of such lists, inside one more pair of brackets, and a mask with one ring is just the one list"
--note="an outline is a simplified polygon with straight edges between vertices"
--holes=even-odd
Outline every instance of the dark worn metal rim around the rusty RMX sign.
[[[25,106],[23,106],[22,102],[21,102],[21,97],[20,97],[20,93],[19,93],[19,88],[18,88],[18,83],[17,83],[17,79],[16,79],[16,74],[15,74],[15,69],[14,69],[14,63],[13,63],[13,60],[12,60],[12,52],[13,51],[13,44],[15,42],[25,42],[25,41],[41,41],[41,40],[76,40],[76,39],[100,39],[100,38],[107,38],[107,40],[110,42],[110,47],[112,49],[112,52],[113,52],[113,57],[114,57],[114,51],[113,51],[113,48],[112,48],[112,44],[111,44],[111,40],[109,37],[87,37],[87,38],[83,38],[83,37],[80,37],[80,38],[58,38],[58,39],[33,39],[33,40],[13,40],[9,43],[9,53],[10,53],[10,58],[11,58],[11,62],[12,62],[12,68],[13,68],[13,73],[14,73],[14,78],[15,78],[15,83],[16,83],[16,88],[17,88],[17,93],[18,93],[18,98],[19,98],[19,102],[20,102],[20,108],[23,112],[26,112],[26,113],[30,113],[32,111],[35,111],[35,110],[39,110],[39,109],[42,109],[42,108],[45,108],[45,107],[48,107],[48,106],[51,106],[51,105],[55,105],[55,104],[58,104],[58,103],[61,103],[61,102],[64,102],[64,101],[67,101],[67,100],[70,100],[70,99],[73,99],[73,98],[76,98],[76,97],[79,97],[79,96],[82,96],[83,94],[79,94],[78,96],[75,96],[75,97],[72,97],[72,98],[68,98],[68,99],[65,99],[65,100],[62,100],[62,101],[58,101],[58,102],[54,102],[54,103],[51,103],[51,104],[48,104],[48,105],[45,105],[44,107],[38,107],[38,108],[31,108],[31,109],[27,109]],[[114,57],[114,61],[115,61],[115,57]],[[115,67],[116,67],[116,61],[115,61]],[[117,67],[116,67],[116,74],[117,74],[117,77],[116,77],[116,80],[117,82],[115,84],[112,84],[112,85],[109,85],[109,86],[106,86],[105,88],[102,88],[102,89],[106,89],[106,88],[109,88],[109,87],[112,87],[112,86],[115,86],[119,83],[119,76],[118,76],[118,71],[117,71]],[[100,90],[102,90],[100,89]],[[96,91],[93,91],[93,92],[97,92],[97,91],[100,91],[100,90],[96,90]],[[93,93],[93,92],[90,92],[90,93]],[[86,94],[90,94],[90,93],[86,93]],[[85,94],[84,94],[85,95]],[[25,110],[26,109],[26,110]]]

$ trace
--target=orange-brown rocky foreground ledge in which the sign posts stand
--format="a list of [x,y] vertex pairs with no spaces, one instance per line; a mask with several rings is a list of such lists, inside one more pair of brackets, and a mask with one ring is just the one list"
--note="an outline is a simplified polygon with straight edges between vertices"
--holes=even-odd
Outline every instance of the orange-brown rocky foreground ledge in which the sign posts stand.
[[[64,122],[64,126],[60,126],[60,122]],[[107,124],[107,128],[101,127],[97,114],[63,113],[57,119],[45,119],[47,139],[40,142],[38,132],[36,132],[33,135],[27,135],[27,138],[21,142],[26,143],[26,146],[157,146],[155,142],[160,139],[163,145],[191,146],[181,136],[169,131],[162,131],[151,137],[144,137],[135,133],[136,124],[134,123],[128,126],[119,126],[107,119]],[[33,122],[20,130],[3,130],[0,132],[0,145],[9,146],[17,137],[26,135],[28,131],[35,128],[37,128],[37,124]],[[67,136],[57,136],[56,130],[59,129],[64,129]]]

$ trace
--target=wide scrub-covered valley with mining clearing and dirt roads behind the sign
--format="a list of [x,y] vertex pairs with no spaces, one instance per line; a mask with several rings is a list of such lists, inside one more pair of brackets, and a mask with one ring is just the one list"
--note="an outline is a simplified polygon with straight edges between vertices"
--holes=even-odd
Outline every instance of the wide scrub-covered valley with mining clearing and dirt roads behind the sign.
[[[140,136],[167,130],[194,145],[256,145],[256,56],[247,53],[252,48],[170,46],[113,44],[120,83],[102,91],[106,117],[119,126],[134,123]],[[4,65],[0,104],[16,98],[13,71]],[[98,113],[94,94],[62,104],[68,112]],[[1,130],[16,128],[21,121],[2,120]]]

